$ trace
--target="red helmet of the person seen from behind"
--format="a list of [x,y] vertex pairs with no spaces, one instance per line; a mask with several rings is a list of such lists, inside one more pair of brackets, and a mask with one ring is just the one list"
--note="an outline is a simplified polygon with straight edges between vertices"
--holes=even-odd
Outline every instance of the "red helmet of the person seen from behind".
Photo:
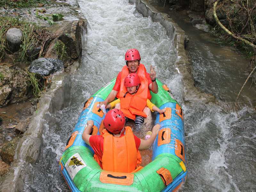
[[111,133],[119,134],[125,124],[125,117],[121,110],[111,109],[103,120],[104,127]]

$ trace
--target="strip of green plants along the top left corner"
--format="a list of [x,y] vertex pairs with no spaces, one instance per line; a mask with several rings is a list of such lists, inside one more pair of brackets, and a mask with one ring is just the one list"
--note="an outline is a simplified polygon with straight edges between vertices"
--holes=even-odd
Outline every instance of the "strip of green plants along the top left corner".
[[38,4],[48,4],[49,0],[1,0],[0,7],[10,7],[10,8],[29,8],[37,7]]

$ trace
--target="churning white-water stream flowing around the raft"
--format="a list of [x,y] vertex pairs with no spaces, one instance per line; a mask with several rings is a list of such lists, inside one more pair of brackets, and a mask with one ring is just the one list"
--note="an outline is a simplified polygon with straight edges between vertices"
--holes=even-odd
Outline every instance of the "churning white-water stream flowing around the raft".
[[[256,116],[253,110],[244,107],[237,116],[200,100],[185,104],[181,76],[174,66],[166,65],[175,62],[176,52],[160,23],[142,17],[127,0],[78,2],[89,23],[86,50],[81,67],[72,75],[69,107],[48,114],[55,121],[45,122],[42,155],[38,163],[26,167],[24,191],[69,191],[58,170],[66,142],[84,101],[117,75],[125,65],[124,54],[129,48],[140,51],[141,63],[148,71],[151,64],[156,67],[157,78],[168,85],[184,109],[188,178],[182,191],[255,191]],[[212,71],[215,76],[212,75],[218,81],[217,69]],[[221,70],[231,78],[225,68]],[[223,94],[221,87],[208,84],[200,74],[197,79],[204,82],[208,92]],[[143,137],[146,132],[141,129],[135,133]],[[150,150],[143,153],[145,162],[151,153]]]

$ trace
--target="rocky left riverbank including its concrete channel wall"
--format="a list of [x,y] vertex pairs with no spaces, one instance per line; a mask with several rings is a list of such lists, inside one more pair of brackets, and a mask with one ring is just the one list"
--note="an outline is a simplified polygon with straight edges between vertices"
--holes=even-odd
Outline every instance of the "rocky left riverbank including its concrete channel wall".
[[[42,4],[42,2],[39,2],[39,4],[38,2],[34,3],[31,5],[32,7],[27,7],[26,5],[25,7],[21,6],[22,8],[12,9],[13,7],[7,6],[2,7],[0,10],[3,18],[9,18],[15,15],[17,20],[22,20],[22,22],[29,24],[33,21],[33,23],[36,23],[31,23],[30,27],[36,25],[38,28],[46,30],[48,34],[51,34],[47,38],[44,38],[43,42],[37,44],[40,45],[37,57],[40,57],[40,55],[41,57],[43,56],[46,58],[44,61],[42,58],[29,58],[32,60],[31,62],[31,60],[25,58],[25,60],[18,60],[18,62],[13,63],[9,58],[14,58],[14,60],[20,58],[20,51],[15,52],[15,54],[4,52],[4,59],[0,66],[3,68],[1,75],[5,74],[6,69],[13,67],[14,70],[20,72],[34,70],[33,73],[39,74],[39,78],[44,79],[44,90],[41,90],[39,93],[39,99],[35,98],[24,102],[22,100],[20,100],[22,102],[12,101],[9,99],[12,97],[8,95],[6,98],[2,97],[3,100],[5,99],[2,104],[5,103],[7,105],[8,99],[9,103],[15,103],[0,108],[3,120],[1,124],[1,137],[3,137],[3,140],[1,140],[0,145],[2,157],[0,159],[1,191],[22,190],[23,183],[20,180],[23,170],[22,166],[29,163],[34,164],[40,157],[44,121],[47,120],[46,114],[53,113],[68,105],[71,84],[69,74],[79,67],[83,46],[85,45],[87,21],[80,12],[79,5],[76,1],[64,3],[45,1],[45,4]],[[60,19],[57,18],[57,20],[53,21],[54,15],[62,16]],[[25,35],[23,29],[23,37]],[[33,40],[33,35],[30,38],[31,40]],[[33,42],[36,42],[36,39]],[[24,44],[24,40],[22,43]],[[31,66],[33,65],[34,67],[37,60],[40,60],[40,62],[43,61],[43,65],[37,65],[36,69],[32,68]],[[49,69],[56,61],[62,63],[63,67],[58,70],[55,67],[53,67],[54,70]],[[53,63],[51,64],[51,62]],[[47,70],[50,71],[47,72]],[[1,78],[4,84],[9,82],[6,75],[1,76]],[[13,86],[13,84],[10,83],[8,86]],[[33,94],[33,89],[31,91]],[[49,121],[53,122],[52,119]],[[25,130],[20,130],[16,133],[15,131],[20,126]],[[14,140],[15,143],[13,143]],[[14,147],[9,148],[8,146]]]

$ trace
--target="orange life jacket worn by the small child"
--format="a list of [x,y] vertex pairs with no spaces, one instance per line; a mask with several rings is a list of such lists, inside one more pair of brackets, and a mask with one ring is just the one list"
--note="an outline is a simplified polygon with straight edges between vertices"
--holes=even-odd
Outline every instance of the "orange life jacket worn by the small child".
[[126,92],[126,88],[120,92],[122,94],[120,96],[120,106],[124,115],[133,120],[135,120],[136,115],[147,117],[143,109],[147,105],[148,79],[140,76],[140,87],[138,91],[134,95]]

